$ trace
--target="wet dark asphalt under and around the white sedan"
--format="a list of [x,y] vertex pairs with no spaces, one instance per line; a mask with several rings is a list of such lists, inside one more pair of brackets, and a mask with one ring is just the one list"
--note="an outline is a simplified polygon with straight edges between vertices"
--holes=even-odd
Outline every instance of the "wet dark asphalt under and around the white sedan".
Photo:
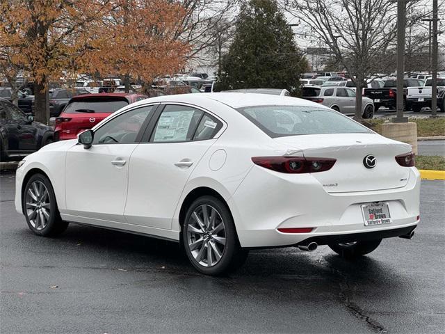
[[37,237],[0,175],[0,333],[444,333],[445,182],[423,181],[412,240],[357,262],[320,246],[252,251],[225,278],[175,244],[70,225]]

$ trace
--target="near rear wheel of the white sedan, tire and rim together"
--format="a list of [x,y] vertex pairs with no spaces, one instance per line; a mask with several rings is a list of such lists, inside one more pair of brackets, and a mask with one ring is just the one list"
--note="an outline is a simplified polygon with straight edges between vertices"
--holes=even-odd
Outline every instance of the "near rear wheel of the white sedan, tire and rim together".
[[188,260],[206,275],[234,271],[248,256],[239,245],[232,214],[213,196],[197,198],[188,208],[182,236]]

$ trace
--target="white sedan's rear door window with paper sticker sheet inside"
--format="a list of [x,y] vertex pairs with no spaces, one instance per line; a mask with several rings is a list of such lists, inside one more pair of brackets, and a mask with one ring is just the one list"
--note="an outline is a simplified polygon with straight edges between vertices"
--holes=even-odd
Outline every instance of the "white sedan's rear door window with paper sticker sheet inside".
[[201,116],[202,111],[189,106],[165,106],[152,134],[152,141],[191,141]]

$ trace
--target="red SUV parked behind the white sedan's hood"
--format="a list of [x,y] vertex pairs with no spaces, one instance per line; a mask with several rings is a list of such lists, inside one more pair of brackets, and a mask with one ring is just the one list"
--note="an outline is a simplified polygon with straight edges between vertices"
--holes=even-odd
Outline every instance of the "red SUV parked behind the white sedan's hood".
[[98,122],[123,106],[147,99],[146,95],[129,93],[83,94],[72,97],[56,118],[56,141],[76,138],[79,132],[91,129]]

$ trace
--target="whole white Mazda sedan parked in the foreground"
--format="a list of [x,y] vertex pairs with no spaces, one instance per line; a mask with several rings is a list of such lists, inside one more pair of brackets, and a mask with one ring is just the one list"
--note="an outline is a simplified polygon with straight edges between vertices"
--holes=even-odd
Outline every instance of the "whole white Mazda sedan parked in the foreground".
[[419,223],[410,145],[294,97],[155,97],[17,169],[15,206],[42,236],[69,222],[181,242],[217,275],[252,248],[328,245],[343,257]]

